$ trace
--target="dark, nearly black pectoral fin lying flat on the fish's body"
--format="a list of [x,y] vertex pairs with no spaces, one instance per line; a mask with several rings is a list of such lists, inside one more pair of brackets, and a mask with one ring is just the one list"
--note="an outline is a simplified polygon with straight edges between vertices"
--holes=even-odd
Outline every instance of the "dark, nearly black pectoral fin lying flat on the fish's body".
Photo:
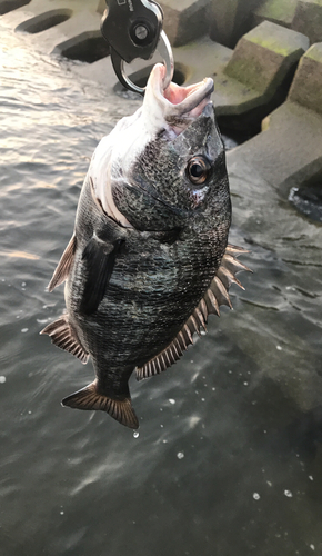
[[103,299],[123,241],[117,239],[114,244],[108,244],[92,238],[84,248],[82,259],[87,279],[80,306],[84,315],[94,312]]

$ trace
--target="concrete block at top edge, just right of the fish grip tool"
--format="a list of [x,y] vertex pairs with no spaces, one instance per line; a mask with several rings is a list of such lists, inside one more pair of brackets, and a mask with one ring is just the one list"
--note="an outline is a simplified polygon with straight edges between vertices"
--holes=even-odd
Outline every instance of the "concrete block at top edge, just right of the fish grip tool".
[[172,47],[180,47],[208,33],[210,0],[160,0],[164,13],[163,29]]

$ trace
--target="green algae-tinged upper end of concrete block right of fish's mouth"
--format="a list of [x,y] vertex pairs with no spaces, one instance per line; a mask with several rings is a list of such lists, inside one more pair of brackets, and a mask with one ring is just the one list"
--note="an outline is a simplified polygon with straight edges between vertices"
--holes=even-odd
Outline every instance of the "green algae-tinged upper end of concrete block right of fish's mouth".
[[224,72],[261,93],[273,91],[308,48],[303,34],[264,21],[242,37]]

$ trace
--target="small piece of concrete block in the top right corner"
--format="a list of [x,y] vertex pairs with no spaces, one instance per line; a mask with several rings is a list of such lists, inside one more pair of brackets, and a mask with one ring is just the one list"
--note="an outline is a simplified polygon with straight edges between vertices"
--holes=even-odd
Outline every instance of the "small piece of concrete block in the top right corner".
[[292,29],[306,34],[311,44],[322,41],[322,1],[299,0]]

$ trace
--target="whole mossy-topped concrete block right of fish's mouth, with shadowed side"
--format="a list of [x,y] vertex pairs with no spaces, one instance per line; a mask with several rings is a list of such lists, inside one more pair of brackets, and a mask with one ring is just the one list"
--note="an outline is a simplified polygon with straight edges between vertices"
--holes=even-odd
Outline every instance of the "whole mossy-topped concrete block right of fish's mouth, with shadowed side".
[[285,100],[308,48],[306,37],[269,21],[246,33],[213,76],[213,102],[222,128],[259,132],[261,120]]

